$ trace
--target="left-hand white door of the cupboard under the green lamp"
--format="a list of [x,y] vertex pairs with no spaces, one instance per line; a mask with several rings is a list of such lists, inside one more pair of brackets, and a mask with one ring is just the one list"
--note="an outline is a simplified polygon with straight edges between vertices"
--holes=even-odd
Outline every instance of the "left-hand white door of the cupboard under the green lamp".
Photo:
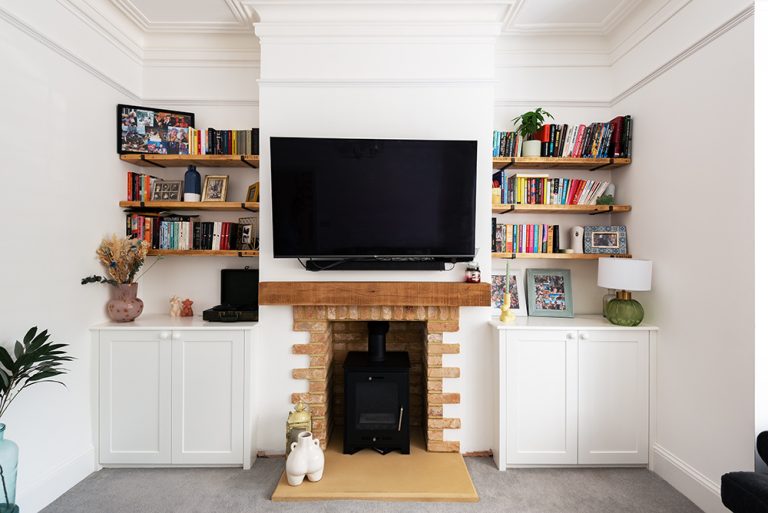
[[507,464],[575,464],[576,334],[507,333]]

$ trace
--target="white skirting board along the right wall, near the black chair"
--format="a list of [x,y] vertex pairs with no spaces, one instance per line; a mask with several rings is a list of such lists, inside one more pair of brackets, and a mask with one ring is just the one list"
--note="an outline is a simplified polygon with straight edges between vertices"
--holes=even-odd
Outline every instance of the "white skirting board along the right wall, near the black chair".
[[706,513],[729,513],[720,501],[720,483],[715,483],[659,444],[654,444],[653,452],[653,471],[662,479]]

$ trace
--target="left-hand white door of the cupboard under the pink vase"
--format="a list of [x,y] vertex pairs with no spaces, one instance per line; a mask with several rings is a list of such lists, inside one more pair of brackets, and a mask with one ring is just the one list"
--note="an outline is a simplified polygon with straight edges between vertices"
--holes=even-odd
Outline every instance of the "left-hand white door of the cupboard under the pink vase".
[[171,332],[99,333],[99,462],[171,463]]

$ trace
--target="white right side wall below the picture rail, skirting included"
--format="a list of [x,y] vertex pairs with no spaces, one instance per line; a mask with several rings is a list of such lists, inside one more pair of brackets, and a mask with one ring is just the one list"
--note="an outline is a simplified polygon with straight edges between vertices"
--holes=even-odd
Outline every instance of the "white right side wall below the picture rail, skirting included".
[[747,17],[614,106],[635,120],[628,233],[654,261],[655,468],[705,511],[753,468],[752,36]]

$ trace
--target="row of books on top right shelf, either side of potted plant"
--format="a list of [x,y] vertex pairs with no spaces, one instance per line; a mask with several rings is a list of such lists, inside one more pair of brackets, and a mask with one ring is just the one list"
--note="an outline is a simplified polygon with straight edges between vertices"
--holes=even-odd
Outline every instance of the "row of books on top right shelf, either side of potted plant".
[[[632,116],[589,125],[546,124],[534,134],[541,157],[631,158]],[[515,132],[493,132],[494,157],[520,157],[523,139]]]

